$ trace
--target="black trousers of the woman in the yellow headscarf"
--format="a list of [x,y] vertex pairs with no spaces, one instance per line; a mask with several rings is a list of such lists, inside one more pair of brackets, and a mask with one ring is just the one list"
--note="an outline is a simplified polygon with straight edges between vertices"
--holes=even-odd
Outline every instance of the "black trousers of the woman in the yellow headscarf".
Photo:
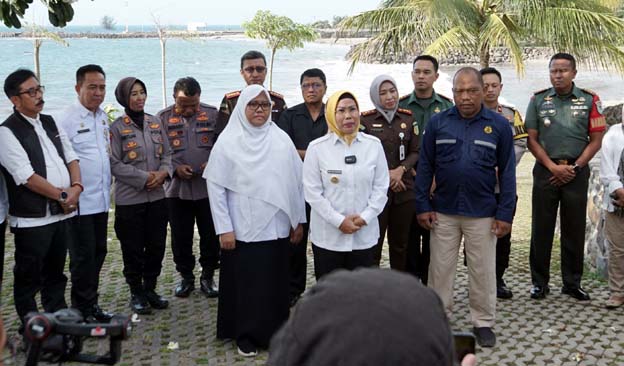
[[312,243],[314,253],[314,275],[318,281],[337,269],[354,270],[375,265],[375,246],[368,249],[338,252],[317,247]]

